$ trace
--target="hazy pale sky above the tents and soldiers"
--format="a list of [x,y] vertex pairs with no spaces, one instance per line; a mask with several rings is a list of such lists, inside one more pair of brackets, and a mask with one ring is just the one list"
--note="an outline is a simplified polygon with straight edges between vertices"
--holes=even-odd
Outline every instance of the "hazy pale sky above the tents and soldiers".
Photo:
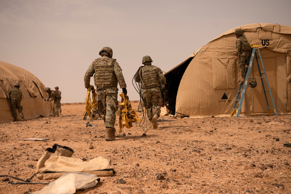
[[139,100],[132,78],[143,56],[168,72],[229,29],[291,26],[290,10],[290,0],[0,0],[0,60],[58,86],[62,103],[84,102],[84,74],[111,47]]

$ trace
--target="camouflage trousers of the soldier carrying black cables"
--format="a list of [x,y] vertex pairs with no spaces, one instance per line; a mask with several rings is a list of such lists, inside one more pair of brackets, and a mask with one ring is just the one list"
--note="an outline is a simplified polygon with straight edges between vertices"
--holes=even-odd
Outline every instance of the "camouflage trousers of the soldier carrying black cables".
[[160,116],[162,97],[159,87],[143,89],[143,102],[145,103],[145,108],[149,120],[152,120],[152,117],[155,114]]

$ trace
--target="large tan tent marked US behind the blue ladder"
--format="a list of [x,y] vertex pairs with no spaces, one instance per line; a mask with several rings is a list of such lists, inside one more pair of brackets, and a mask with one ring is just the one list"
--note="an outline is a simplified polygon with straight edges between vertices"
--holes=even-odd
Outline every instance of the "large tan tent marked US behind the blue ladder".
[[[290,114],[291,27],[249,24],[237,28],[244,31],[251,45],[259,45],[278,114]],[[165,74],[170,83],[166,98],[172,114],[193,118],[230,116],[240,83],[235,60],[237,28],[219,35]],[[251,70],[250,76],[259,76],[255,60]],[[269,114],[262,83],[260,79],[257,82],[256,88],[247,87],[240,115]],[[270,97],[268,102],[272,108]]]

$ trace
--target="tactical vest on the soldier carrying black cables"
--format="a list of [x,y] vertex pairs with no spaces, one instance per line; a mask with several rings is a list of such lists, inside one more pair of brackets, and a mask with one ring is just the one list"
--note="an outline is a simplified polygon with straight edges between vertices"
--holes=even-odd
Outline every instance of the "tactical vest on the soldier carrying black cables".
[[159,87],[159,70],[156,66],[146,65],[141,69],[143,89]]

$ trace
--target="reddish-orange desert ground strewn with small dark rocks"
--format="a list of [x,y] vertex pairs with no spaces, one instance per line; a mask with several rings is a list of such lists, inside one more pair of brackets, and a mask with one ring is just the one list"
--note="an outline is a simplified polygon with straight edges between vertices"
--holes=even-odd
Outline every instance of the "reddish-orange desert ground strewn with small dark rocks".
[[[145,130],[145,125],[134,123],[125,128],[125,137],[118,133],[117,116],[116,140],[105,141],[103,120],[92,122],[96,128],[86,127],[84,111],[85,104],[63,104],[58,118],[0,124],[0,175],[31,177],[45,149],[57,143],[72,148],[72,158],[89,161],[105,156],[116,171],[77,194],[291,193],[291,148],[283,146],[291,143],[291,115],[183,119],[165,115],[157,129]],[[7,178],[18,181],[0,177],[0,193],[29,193],[45,186],[11,185]]]

